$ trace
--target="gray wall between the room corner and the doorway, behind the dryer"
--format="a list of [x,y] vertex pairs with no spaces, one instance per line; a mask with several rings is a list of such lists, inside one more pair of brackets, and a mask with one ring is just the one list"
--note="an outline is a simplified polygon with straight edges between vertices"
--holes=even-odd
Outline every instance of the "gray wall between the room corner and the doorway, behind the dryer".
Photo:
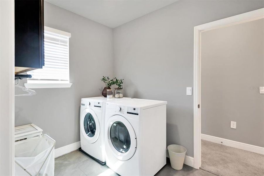
[[[114,73],[125,96],[168,101],[167,145],[193,157],[193,27],[264,7],[264,1],[178,1],[114,29]],[[157,139],[158,140],[158,139]]]

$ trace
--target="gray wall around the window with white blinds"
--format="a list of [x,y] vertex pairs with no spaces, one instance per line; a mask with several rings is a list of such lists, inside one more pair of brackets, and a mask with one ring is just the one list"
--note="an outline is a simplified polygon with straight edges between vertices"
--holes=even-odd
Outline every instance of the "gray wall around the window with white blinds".
[[113,30],[44,2],[45,26],[70,32],[71,88],[35,89],[15,98],[15,125],[34,123],[56,140],[55,148],[80,141],[80,101],[100,96],[102,75],[113,76]]

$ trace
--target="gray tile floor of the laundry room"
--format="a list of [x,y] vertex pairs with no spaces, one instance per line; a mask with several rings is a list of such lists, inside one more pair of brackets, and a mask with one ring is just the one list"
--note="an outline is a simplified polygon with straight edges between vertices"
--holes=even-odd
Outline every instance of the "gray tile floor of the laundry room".
[[[55,172],[58,176],[117,176],[115,172],[106,165],[102,166],[79,150],[55,158]],[[156,174],[157,176],[215,176],[201,169],[184,165],[182,170],[171,168],[169,160],[167,164]]]

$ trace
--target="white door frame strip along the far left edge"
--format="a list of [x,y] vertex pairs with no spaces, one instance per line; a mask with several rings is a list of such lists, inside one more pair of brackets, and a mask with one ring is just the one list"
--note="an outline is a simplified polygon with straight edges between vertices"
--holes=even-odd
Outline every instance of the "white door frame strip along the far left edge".
[[0,38],[0,175],[14,175],[14,0],[0,1]]

